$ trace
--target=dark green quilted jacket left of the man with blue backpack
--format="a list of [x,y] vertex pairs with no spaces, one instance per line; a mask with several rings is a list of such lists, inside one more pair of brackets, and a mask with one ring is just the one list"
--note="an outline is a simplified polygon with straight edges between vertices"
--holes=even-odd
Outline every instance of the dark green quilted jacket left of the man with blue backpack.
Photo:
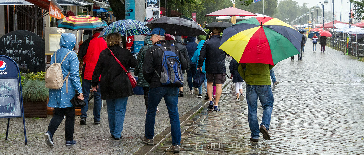
[[149,83],[143,77],[143,61],[145,53],[148,51],[149,47],[153,46],[152,41],[150,40],[151,36],[146,36],[144,39],[144,45],[140,49],[138,53],[138,65],[135,67],[134,75],[138,76],[137,86],[139,87],[149,87]]

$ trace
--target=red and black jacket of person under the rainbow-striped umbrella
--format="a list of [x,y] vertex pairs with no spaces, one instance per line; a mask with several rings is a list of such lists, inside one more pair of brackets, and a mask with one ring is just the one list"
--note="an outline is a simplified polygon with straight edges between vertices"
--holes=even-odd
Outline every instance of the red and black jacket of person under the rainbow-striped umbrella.
[[99,55],[101,51],[107,48],[106,41],[102,37],[98,38],[99,35],[100,33],[96,32],[92,35],[92,38],[85,40],[84,43],[80,45],[78,57],[83,59],[81,74],[83,79],[92,80],[92,73],[99,60]]

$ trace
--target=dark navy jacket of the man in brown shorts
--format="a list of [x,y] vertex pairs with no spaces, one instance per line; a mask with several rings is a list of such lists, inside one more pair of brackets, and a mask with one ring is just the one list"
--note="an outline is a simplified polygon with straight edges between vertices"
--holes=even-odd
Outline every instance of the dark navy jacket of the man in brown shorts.
[[225,73],[225,57],[224,51],[219,49],[221,36],[212,35],[210,39],[207,39],[202,46],[200,57],[197,67],[202,67],[203,61],[205,61],[206,73]]

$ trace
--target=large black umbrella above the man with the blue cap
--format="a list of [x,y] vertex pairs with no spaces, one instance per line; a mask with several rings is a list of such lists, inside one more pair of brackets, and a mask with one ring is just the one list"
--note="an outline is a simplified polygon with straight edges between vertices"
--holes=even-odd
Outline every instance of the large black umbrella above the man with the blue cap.
[[156,18],[146,24],[150,29],[156,27],[163,28],[166,33],[174,36],[199,36],[207,35],[206,32],[195,21],[182,19],[179,17]]

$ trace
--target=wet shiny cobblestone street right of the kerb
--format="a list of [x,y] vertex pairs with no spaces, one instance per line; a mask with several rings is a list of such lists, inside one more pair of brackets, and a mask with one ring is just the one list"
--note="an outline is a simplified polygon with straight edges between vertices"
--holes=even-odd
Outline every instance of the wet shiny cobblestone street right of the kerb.
[[[274,67],[281,83],[272,86],[274,106],[269,133],[250,142],[246,100],[234,102],[235,88],[226,87],[221,111],[195,115],[181,128],[180,155],[364,153],[364,63],[326,48],[312,52],[307,41],[302,61],[286,59]],[[245,84],[244,95],[245,95]],[[258,102],[258,107],[259,107]],[[260,122],[262,108],[258,108]],[[171,139],[154,152],[170,152]]]

